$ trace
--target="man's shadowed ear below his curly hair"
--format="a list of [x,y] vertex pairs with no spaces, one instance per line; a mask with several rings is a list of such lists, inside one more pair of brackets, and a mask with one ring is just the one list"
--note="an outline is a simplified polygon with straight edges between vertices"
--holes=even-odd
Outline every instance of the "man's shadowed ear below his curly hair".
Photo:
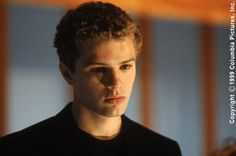
[[60,61],[59,68],[66,82],[70,85],[73,85],[74,78],[72,71],[62,61]]

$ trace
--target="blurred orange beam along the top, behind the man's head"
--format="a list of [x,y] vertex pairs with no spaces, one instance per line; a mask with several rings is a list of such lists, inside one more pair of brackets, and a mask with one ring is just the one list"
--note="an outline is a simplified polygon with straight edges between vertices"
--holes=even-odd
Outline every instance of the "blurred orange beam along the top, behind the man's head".
[[[72,8],[88,0],[8,0],[9,4],[32,4]],[[229,23],[230,0],[101,0],[116,4],[138,16]]]

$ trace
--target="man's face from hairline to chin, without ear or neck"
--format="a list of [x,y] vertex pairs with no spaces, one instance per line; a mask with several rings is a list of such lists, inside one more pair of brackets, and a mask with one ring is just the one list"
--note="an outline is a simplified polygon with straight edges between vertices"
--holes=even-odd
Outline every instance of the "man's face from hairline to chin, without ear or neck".
[[90,43],[75,63],[75,103],[106,117],[122,115],[128,105],[136,73],[131,38]]

